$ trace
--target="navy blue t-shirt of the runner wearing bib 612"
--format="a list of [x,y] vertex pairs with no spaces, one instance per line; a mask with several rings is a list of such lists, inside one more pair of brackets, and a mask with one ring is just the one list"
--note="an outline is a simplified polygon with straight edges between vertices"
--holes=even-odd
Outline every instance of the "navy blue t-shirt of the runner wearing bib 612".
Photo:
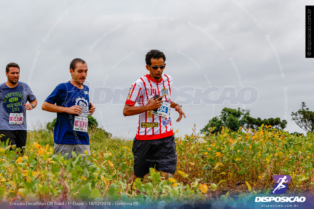
[[[68,81],[59,84],[55,90],[47,97],[45,102],[56,104],[61,107],[71,107],[79,105],[83,108],[80,117],[88,117],[89,115],[89,88],[84,85],[83,89],[79,89]],[[87,132],[74,131],[75,114],[66,112],[57,112],[57,122],[53,131],[53,139],[56,144],[89,144],[89,136]]]

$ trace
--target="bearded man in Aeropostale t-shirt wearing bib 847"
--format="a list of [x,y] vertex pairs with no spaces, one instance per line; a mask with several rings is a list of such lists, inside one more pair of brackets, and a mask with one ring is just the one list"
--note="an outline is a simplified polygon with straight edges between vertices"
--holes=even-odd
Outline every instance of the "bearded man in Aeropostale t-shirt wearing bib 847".
[[27,137],[26,110],[34,109],[37,100],[30,86],[19,81],[19,70],[18,64],[9,63],[5,69],[8,81],[0,84],[0,139],[9,139],[9,144],[22,149]]

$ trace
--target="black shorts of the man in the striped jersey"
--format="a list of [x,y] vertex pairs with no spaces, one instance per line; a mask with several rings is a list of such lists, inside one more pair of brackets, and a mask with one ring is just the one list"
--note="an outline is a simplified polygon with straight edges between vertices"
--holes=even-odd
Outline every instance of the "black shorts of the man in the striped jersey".
[[160,139],[138,140],[134,138],[132,147],[134,157],[134,175],[144,177],[149,168],[174,174],[177,154],[174,136]]

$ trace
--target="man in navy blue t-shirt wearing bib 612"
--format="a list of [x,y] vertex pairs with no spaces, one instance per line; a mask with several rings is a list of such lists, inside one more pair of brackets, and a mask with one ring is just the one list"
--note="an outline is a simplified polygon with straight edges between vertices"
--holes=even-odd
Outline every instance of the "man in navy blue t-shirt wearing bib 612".
[[76,58],[70,63],[71,81],[59,84],[47,97],[41,108],[48,112],[57,112],[57,122],[53,130],[55,153],[71,152],[90,155],[87,130],[88,115],[95,112],[95,106],[89,102],[89,88],[84,85],[87,76],[87,64]]

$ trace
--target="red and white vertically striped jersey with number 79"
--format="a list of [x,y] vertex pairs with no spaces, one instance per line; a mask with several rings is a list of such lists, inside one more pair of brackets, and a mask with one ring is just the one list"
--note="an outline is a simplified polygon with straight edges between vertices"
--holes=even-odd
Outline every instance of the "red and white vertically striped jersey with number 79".
[[[154,99],[156,94],[164,95],[162,101],[170,103],[171,76],[162,74],[161,81],[156,82],[149,75],[139,78],[130,88],[125,104],[134,106],[144,106]],[[139,114],[136,138],[139,140],[149,140],[172,136],[171,117],[161,117],[152,114],[151,110]]]

